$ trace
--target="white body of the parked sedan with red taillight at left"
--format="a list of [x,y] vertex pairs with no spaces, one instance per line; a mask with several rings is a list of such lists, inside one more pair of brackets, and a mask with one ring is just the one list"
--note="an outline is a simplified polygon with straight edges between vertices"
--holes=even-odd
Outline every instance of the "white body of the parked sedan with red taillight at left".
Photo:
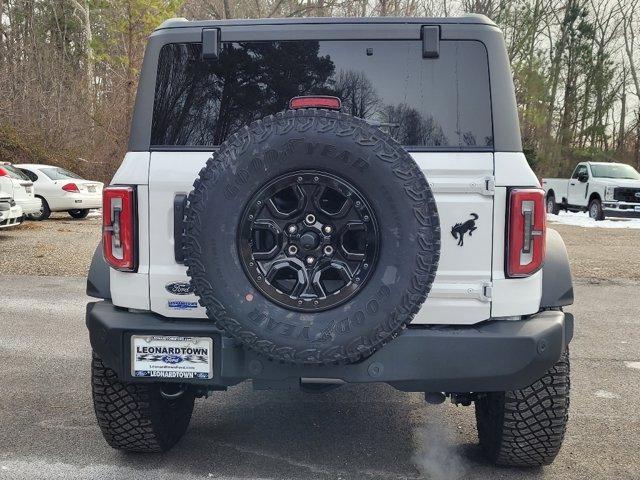
[[[52,212],[102,207],[103,184],[101,182],[75,178],[52,180],[42,171],[42,168],[53,168],[51,165],[22,164],[16,167],[31,174],[35,195],[42,197]],[[75,183],[79,191],[63,190],[62,187],[69,183]],[[39,205],[36,211],[38,210],[40,210]]]

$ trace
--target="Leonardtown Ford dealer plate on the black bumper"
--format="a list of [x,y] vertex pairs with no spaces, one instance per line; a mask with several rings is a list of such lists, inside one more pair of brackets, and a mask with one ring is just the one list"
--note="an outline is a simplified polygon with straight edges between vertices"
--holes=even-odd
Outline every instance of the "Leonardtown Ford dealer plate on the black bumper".
[[131,337],[131,375],[152,378],[213,378],[209,337]]

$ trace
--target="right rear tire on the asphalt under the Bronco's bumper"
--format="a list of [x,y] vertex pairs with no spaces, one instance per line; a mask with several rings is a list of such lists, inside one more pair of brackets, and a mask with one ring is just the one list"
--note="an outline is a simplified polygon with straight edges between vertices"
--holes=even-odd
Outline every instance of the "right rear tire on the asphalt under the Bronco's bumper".
[[537,467],[558,455],[569,419],[569,351],[528,387],[476,400],[478,438],[497,465]]

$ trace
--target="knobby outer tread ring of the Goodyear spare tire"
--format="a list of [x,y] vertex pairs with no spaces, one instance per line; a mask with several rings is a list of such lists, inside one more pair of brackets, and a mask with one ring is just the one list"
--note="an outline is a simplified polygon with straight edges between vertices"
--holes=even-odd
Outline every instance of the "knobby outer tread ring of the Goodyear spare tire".
[[[374,335],[368,337],[357,348],[348,350],[343,348],[342,352],[338,352],[330,347],[324,350],[318,349],[313,355],[308,355],[311,349],[305,348],[304,358],[300,357],[299,351],[289,345],[276,344],[258,337],[227,313],[227,309],[216,298],[207,280],[204,263],[201,260],[204,249],[199,243],[201,226],[207,217],[207,190],[215,188],[216,181],[222,173],[232,168],[236,154],[243,152],[250,141],[262,142],[271,135],[277,134],[278,129],[289,131],[292,128],[298,128],[301,132],[315,128],[317,131],[331,132],[341,136],[351,135],[360,145],[371,149],[372,157],[377,158],[381,163],[392,165],[394,175],[390,176],[389,181],[401,182],[407,194],[407,208],[413,208],[416,218],[425,226],[423,231],[416,232],[419,238],[419,253],[413,271],[412,287],[403,296],[403,304],[396,307],[394,314],[389,316],[384,325],[381,325]],[[375,134],[372,133],[374,131]],[[194,189],[188,195],[185,208],[183,245],[187,275],[191,278],[194,293],[199,297],[200,305],[206,308],[207,316],[219,328],[270,360],[306,365],[356,363],[397,337],[411,322],[427,298],[440,258],[440,221],[435,199],[417,164],[413,160],[406,161],[407,153],[402,146],[387,135],[377,132],[375,127],[364,120],[336,111],[286,110],[257,120],[231,135],[209,158],[193,184]]]

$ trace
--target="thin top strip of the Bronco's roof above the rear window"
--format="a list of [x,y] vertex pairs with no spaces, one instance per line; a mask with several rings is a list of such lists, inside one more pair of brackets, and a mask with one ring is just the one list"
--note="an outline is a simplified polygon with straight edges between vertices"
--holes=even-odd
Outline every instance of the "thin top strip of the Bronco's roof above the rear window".
[[463,17],[304,17],[304,18],[261,18],[233,20],[187,20],[171,18],[156,30],[188,27],[221,27],[248,25],[335,25],[335,24],[421,24],[421,25],[490,25],[495,26],[484,15],[469,14]]

